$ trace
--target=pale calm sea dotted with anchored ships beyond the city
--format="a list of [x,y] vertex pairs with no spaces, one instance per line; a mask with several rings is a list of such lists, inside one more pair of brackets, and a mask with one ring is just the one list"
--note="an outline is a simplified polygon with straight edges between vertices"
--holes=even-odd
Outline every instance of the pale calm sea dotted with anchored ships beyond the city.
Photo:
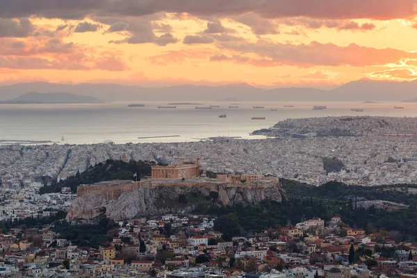
[[[167,105],[166,102],[143,102],[145,107],[137,108],[129,108],[128,102],[0,104],[0,144],[190,142],[218,136],[261,139],[264,137],[250,136],[250,133],[268,129],[288,118],[357,115],[417,117],[416,103],[187,102],[195,104],[177,104],[176,109],[157,108]],[[229,105],[239,108],[228,108]],[[314,111],[312,108],[315,105],[327,106],[327,109]],[[195,109],[196,106],[220,107]],[[404,108],[395,109],[394,106]],[[271,108],[277,111],[271,111]],[[351,111],[352,108],[361,108],[363,112]],[[221,114],[227,117],[220,118]],[[265,117],[265,120],[252,120],[252,117]]]

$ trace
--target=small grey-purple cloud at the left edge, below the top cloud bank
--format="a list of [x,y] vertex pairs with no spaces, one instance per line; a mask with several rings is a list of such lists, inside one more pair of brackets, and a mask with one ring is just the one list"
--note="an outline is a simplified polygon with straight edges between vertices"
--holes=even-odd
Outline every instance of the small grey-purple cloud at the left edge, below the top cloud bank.
[[1,19],[0,38],[26,38],[35,30],[35,26],[27,18]]

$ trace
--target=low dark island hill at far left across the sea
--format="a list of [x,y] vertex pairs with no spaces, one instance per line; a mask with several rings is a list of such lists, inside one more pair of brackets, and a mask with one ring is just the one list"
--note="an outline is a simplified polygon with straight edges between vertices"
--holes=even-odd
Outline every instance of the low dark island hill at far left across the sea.
[[28,92],[25,95],[2,101],[6,104],[81,104],[103,102],[95,97],[73,95],[66,92]]

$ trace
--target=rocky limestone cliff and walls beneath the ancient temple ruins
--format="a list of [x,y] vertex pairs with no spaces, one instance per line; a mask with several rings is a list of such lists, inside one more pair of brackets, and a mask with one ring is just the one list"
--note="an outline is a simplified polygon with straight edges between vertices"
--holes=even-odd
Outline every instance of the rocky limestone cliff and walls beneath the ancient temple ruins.
[[124,181],[80,186],[67,219],[90,219],[105,214],[113,220],[128,220],[163,213],[191,212],[198,205],[209,206],[213,202],[224,205],[256,204],[263,199],[281,202],[283,198],[285,193],[279,183],[230,185],[201,181]]

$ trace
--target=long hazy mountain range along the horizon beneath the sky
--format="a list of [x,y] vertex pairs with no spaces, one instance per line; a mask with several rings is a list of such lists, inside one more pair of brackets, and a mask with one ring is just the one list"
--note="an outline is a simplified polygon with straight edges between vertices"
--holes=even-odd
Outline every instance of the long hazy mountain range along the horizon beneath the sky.
[[361,79],[345,83],[334,90],[315,88],[266,90],[246,83],[217,87],[176,85],[145,88],[113,83],[72,85],[33,82],[0,86],[0,101],[10,100],[28,92],[63,92],[104,101],[229,101],[229,99],[236,101],[417,101],[417,80],[397,82]]

